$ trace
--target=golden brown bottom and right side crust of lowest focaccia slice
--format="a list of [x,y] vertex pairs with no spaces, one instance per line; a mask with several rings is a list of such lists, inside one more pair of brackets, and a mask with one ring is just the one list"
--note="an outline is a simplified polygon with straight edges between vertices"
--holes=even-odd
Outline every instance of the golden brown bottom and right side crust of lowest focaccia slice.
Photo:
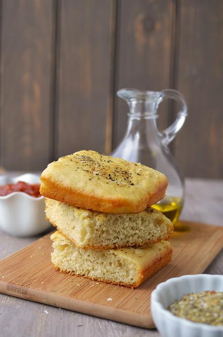
[[85,278],[88,278],[94,281],[100,281],[100,282],[118,285],[118,286],[127,286],[128,288],[137,288],[138,286],[142,285],[142,283],[145,280],[153,276],[157,271],[159,271],[161,268],[167,265],[172,259],[172,254],[173,254],[173,250],[170,247],[168,251],[165,251],[165,253],[160,255],[159,258],[157,258],[156,260],[154,260],[152,264],[149,264],[146,268],[144,268],[144,270],[142,270],[137,282],[135,282],[134,284],[124,283],[124,282],[113,282],[113,281],[108,281],[105,279],[100,279],[97,277],[85,276],[85,275],[74,273],[73,271],[61,270],[59,267],[56,267],[54,265],[53,266],[56,270],[59,270],[60,272],[67,273],[70,275],[85,277]]

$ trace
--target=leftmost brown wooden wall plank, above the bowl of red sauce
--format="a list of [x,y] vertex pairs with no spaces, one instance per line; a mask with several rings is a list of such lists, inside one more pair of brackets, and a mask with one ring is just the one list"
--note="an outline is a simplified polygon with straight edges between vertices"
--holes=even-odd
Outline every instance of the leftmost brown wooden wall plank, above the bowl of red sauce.
[[1,165],[39,170],[51,157],[53,0],[1,4]]

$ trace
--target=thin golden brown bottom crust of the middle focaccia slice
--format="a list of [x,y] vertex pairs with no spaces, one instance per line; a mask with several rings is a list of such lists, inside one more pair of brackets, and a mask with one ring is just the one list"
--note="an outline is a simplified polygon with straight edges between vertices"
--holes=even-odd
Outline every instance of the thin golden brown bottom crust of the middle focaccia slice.
[[[46,218],[49,222],[50,220],[48,218]],[[110,246],[91,246],[91,245],[85,245],[85,246],[80,246],[75,240],[73,240],[72,238],[70,238],[69,236],[67,236],[66,234],[63,233],[63,231],[57,227],[57,225],[55,223],[53,223],[52,221],[50,222],[54,227],[56,227],[57,231],[62,234],[68,241],[72,242],[73,244],[75,244],[76,247],[81,248],[81,249],[97,249],[97,250],[102,250],[102,249],[118,249],[118,248],[126,248],[126,247],[134,247],[134,246],[144,246],[146,244],[151,244],[151,243],[157,243],[160,240],[169,240],[169,238],[171,237],[173,231],[166,237],[162,237],[159,240],[145,240],[143,242],[135,242],[134,244],[127,244],[125,246],[123,245],[118,245],[117,243],[115,243],[114,245],[110,245]]]

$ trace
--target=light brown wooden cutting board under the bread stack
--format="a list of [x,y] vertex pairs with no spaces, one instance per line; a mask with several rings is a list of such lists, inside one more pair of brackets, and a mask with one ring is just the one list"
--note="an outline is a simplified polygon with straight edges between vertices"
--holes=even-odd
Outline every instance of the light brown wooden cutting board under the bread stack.
[[136,289],[113,286],[54,270],[49,234],[0,261],[0,292],[146,328],[154,327],[150,293],[170,277],[202,273],[223,248],[223,228],[182,222],[172,262]]

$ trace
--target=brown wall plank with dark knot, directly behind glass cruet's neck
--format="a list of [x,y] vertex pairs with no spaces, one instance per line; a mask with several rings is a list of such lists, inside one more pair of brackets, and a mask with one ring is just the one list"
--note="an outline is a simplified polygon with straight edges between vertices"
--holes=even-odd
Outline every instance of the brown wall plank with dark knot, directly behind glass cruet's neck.
[[[118,2],[115,91],[133,87],[161,90],[170,85],[172,24],[171,0]],[[167,104],[159,109],[159,127],[168,124]],[[113,147],[127,128],[127,103],[115,97]]]

